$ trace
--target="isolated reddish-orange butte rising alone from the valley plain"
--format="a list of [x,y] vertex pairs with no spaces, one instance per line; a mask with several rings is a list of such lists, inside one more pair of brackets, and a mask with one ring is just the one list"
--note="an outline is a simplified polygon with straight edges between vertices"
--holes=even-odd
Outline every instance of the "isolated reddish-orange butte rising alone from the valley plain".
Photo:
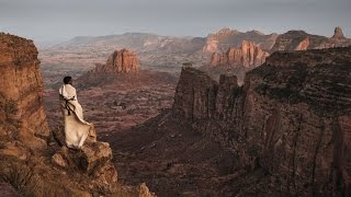
[[106,61],[106,65],[97,65],[95,72],[137,73],[139,72],[139,59],[136,53],[127,49],[115,50]]

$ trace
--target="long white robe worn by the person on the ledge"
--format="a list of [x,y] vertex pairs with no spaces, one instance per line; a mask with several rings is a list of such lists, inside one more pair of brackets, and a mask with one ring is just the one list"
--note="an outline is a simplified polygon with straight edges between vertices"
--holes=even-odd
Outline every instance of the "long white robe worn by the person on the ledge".
[[[77,100],[76,89],[70,84],[64,84],[59,89],[59,103],[65,117],[65,136],[66,144],[69,148],[81,148],[89,132],[93,129],[92,124],[83,119],[83,109]],[[72,111],[66,108],[66,100],[69,100],[67,105]]]

